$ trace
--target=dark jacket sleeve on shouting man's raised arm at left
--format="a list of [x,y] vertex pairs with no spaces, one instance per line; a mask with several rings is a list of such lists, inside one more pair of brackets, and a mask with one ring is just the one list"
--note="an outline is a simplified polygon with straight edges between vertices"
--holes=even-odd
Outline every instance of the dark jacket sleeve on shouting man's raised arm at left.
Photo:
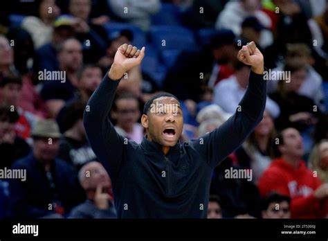
[[93,152],[109,172],[113,183],[120,170],[124,145],[127,144],[109,120],[109,111],[118,83],[119,81],[111,80],[107,73],[89,99],[83,115],[87,139]]

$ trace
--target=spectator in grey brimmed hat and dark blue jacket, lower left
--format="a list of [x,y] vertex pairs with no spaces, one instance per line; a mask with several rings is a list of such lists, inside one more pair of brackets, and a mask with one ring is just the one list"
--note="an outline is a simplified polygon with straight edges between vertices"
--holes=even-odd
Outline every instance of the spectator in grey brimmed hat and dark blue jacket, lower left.
[[57,159],[60,132],[55,120],[39,120],[32,132],[33,152],[15,161],[26,181],[10,179],[10,210],[14,217],[64,217],[84,201],[77,173]]

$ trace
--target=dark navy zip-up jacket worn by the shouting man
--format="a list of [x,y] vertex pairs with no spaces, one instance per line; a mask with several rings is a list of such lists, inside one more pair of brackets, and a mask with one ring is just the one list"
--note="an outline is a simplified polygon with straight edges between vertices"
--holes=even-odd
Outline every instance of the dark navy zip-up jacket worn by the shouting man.
[[212,171],[262,120],[266,81],[250,71],[248,89],[235,114],[201,138],[177,143],[165,156],[161,145],[120,136],[109,121],[119,81],[104,77],[84,111],[93,151],[111,177],[120,218],[206,218]]

